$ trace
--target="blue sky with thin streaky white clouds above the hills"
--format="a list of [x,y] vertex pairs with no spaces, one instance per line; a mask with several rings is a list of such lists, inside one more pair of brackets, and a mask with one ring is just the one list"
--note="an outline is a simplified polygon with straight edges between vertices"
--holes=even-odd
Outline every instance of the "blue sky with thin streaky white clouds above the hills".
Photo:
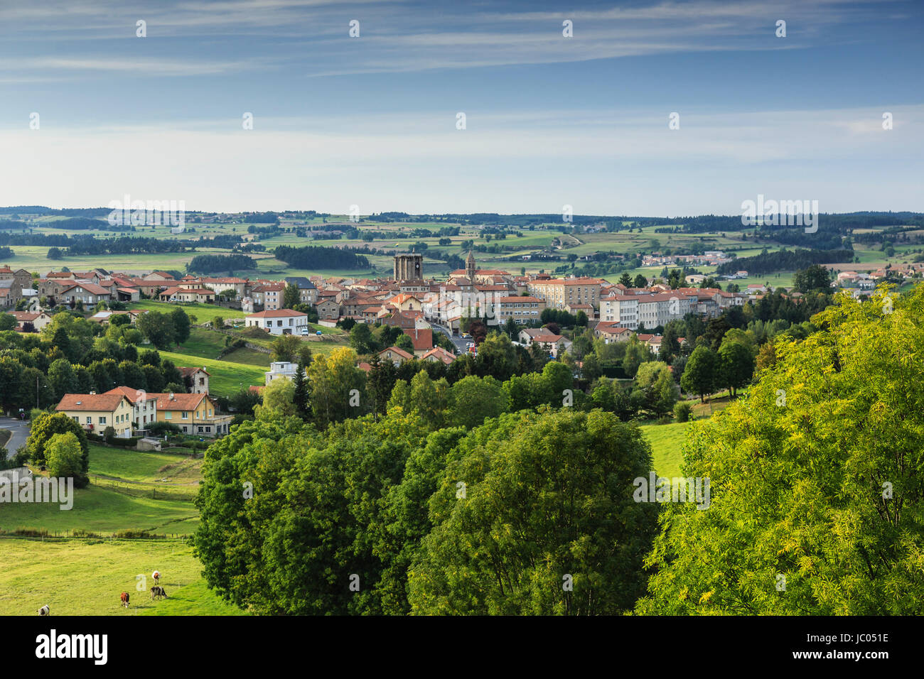
[[920,0],[0,0],[0,205],[924,211],[922,37]]

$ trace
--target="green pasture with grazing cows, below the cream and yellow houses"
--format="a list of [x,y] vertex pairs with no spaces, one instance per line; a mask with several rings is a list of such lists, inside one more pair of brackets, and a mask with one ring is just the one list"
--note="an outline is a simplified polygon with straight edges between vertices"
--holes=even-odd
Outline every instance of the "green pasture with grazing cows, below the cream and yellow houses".
[[[0,536],[0,615],[33,615],[49,604],[55,615],[241,615],[219,600],[201,578],[187,540],[113,538],[115,531],[193,533],[199,512],[192,503],[201,459],[91,445],[91,486],[75,491],[73,509],[52,504],[4,504],[0,530],[44,529],[41,538]],[[162,480],[165,479],[165,480]],[[160,490],[158,490],[160,487]],[[155,499],[152,491],[182,499]],[[97,538],[55,537],[75,529]],[[136,589],[139,574],[162,574],[168,599],[152,601]],[[131,595],[128,610],[119,593]]]

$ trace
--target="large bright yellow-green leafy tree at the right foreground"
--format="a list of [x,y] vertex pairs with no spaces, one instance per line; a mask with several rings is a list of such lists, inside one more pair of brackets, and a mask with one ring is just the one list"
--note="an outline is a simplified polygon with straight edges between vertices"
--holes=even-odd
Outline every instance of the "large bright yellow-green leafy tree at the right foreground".
[[891,313],[883,294],[838,297],[748,398],[692,431],[684,473],[711,479],[709,510],[665,507],[638,612],[920,612],[924,362],[908,347],[924,346],[924,287]]

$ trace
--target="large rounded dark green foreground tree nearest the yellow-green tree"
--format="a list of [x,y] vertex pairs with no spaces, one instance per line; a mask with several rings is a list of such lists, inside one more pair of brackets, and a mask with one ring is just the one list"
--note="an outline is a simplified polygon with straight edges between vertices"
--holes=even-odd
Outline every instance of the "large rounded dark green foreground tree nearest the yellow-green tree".
[[411,611],[631,610],[658,509],[626,488],[650,459],[638,429],[601,411],[520,412],[471,432],[430,501],[434,527],[408,569]]

